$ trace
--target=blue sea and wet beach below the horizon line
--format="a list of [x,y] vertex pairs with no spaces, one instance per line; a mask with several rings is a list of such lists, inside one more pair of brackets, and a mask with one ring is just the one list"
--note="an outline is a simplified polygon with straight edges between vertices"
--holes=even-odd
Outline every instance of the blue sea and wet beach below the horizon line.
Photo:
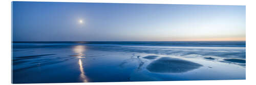
[[13,83],[245,79],[245,42],[13,42]]

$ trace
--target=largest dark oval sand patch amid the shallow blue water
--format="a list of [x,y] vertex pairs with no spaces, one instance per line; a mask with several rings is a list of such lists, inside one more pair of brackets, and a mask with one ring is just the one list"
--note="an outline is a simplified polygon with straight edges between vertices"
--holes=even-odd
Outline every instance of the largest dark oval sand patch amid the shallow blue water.
[[146,69],[156,73],[182,73],[198,69],[201,66],[201,64],[186,60],[164,57],[152,62]]

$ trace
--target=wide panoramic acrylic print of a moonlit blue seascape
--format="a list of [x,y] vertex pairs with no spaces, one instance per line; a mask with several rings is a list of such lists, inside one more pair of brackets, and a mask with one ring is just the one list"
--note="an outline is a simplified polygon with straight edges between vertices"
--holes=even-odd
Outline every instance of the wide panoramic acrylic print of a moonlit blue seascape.
[[12,2],[12,83],[245,79],[245,6]]

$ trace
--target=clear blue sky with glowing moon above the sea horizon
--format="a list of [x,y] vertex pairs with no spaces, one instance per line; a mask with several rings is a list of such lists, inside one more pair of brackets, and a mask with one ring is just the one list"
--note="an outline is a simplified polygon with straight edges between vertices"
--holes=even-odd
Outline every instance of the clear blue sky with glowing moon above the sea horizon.
[[245,6],[13,2],[13,41],[245,41]]

